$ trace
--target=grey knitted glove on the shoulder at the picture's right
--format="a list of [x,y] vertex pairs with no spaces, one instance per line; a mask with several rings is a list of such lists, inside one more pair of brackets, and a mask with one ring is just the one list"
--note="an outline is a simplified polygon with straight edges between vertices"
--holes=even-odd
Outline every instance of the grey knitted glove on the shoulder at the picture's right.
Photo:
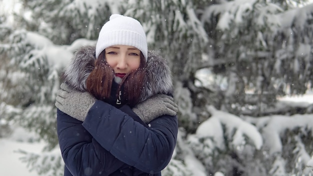
[[171,96],[158,94],[150,97],[132,108],[143,122],[149,123],[161,115],[176,115],[178,106]]

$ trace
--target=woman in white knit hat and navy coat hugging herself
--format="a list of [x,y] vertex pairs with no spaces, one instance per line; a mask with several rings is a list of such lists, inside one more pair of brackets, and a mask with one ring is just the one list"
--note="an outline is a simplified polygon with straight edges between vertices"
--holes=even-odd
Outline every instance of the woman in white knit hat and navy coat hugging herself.
[[177,137],[166,61],[141,24],[113,14],[96,47],[82,47],[55,105],[64,175],[161,175]]

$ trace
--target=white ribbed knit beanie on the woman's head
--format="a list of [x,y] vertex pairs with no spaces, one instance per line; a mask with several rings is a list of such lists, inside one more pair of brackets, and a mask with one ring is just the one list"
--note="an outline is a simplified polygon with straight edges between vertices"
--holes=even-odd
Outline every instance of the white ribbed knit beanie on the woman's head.
[[98,58],[106,47],[116,44],[138,48],[145,60],[147,60],[148,47],[145,32],[140,22],[136,19],[120,14],[112,14],[109,21],[100,30],[95,46],[95,57]]

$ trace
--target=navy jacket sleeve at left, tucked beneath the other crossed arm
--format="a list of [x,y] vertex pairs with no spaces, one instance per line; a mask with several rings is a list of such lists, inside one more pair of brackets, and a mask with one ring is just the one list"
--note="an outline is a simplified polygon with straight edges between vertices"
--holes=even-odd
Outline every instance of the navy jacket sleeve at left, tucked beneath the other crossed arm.
[[72,175],[108,175],[124,164],[104,149],[81,121],[59,109],[57,135],[64,163]]

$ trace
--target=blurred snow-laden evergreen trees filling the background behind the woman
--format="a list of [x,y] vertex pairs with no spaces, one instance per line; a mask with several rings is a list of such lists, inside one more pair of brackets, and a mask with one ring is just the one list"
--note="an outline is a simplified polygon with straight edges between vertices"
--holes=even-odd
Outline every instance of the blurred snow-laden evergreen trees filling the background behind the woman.
[[[112,13],[138,19],[166,58],[179,135],[163,175],[313,175],[313,4],[307,0],[0,0],[0,137],[18,124],[45,141],[20,150],[62,175],[56,91],[73,52],[94,45]],[[8,5],[15,5],[9,12]]]

